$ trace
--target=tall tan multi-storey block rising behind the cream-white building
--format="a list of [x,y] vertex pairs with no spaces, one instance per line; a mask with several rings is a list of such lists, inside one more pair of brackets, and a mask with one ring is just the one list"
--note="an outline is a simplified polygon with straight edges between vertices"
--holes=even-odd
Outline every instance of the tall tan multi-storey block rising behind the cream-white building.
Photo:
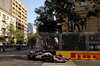
[[27,42],[27,8],[19,0],[0,0],[0,8],[16,18],[16,29],[23,32]]

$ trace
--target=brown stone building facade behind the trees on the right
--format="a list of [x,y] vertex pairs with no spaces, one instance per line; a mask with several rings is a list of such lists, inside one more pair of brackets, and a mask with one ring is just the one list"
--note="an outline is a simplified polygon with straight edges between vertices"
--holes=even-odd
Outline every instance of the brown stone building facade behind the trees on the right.
[[[89,18],[86,17],[89,11],[93,11],[93,8],[92,8],[93,5],[94,5],[94,2],[88,1],[88,0],[75,2],[74,11],[77,14],[79,14],[81,17],[87,20],[85,25],[79,26],[82,32],[100,32],[100,19],[94,16],[91,16]],[[68,22],[68,18],[66,18],[66,22]],[[72,24],[74,24],[74,22]],[[71,30],[71,26],[72,26],[74,29],[74,32],[78,32],[78,28],[74,27],[74,25],[72,24],[71,24],[71,21],[69,21],[69,25],[70,25],[69,30]],[[67,25],[63,26],[61,23],[58,23],[58,26],[62,29],[62,32],[64,31],[68,32]]]

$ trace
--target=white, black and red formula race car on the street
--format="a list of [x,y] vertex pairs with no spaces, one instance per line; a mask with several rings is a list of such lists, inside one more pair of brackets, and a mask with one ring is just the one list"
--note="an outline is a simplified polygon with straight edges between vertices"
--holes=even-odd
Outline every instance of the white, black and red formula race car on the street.
[[61,54],[59,56],[52,55],[50,52],[36,52],[36,51],[30,51],[27,55],[28,59],[35,60],[35,59],[41,59],[43,61],[50,61],[50,62],[66,62],[69,60],[68,57],[64,58]]

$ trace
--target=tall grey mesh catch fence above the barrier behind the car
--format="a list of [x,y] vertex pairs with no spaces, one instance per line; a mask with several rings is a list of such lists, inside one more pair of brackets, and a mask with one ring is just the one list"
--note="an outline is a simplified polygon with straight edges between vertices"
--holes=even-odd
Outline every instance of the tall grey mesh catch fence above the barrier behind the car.
[[100,51],[100,33],[39,33],[37,47],[41,50]]

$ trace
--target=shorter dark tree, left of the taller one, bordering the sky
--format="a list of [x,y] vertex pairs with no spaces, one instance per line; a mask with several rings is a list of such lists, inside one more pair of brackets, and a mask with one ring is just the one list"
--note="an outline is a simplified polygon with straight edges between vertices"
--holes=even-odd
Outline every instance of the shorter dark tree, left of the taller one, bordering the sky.
[[39,15],[35,20],[39,32],[52,33],[56,31],[56,21],[54,20],[53,15],[51,15],[51,17],[48,15],[45,6],[36,8],[35,13]]

